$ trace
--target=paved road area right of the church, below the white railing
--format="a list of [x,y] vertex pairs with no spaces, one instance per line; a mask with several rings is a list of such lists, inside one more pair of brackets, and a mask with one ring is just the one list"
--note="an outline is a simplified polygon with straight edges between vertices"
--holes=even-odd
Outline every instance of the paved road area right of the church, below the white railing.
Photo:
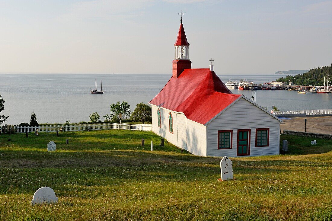
[[289,117],[290,120],[283,119],[280,129],[304,132],[304,119],[307,119],[306,132],[318,134],[332,134],[332,116],[322,117]]

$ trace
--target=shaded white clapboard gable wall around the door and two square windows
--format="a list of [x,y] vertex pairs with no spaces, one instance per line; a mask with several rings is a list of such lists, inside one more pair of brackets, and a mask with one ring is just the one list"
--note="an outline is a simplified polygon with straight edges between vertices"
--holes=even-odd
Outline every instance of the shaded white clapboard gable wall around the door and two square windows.
[[[270,128],[268,147],[255,147],[256,128]],[[251,129],[250,156],[279,154],[280,121],[241,98],[207,125],[207,156],[236,157],[238,129]],[[218,150],[218,130],[233,130],[232,149]]]

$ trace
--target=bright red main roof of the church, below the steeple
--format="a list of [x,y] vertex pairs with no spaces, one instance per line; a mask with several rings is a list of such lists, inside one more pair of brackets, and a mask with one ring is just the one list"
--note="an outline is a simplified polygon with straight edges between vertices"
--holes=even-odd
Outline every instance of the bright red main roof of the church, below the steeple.
[[150,104],[183,112],[188,119],[205,124],[239,96],[210,69],[185,69],[178,78],[171,77]]

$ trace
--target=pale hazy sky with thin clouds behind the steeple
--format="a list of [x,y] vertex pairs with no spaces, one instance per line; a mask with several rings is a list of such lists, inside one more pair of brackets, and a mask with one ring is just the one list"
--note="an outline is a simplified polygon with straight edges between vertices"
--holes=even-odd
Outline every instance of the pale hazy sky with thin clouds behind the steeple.
[[0,0],[2,73],[274,73],[332,63],[332,0]]

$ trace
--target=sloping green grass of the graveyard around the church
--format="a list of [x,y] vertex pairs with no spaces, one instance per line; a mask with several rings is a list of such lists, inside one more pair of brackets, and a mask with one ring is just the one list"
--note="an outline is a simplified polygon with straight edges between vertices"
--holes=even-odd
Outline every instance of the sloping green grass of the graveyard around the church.
[[[162,148],[152,132],[8,138],[0,136],[0,220],[332,220],[332,141],[282,136],[287,155],[231,158],[235,180],[217,182],[220,158]],[[41,186],[59,202],[30,206]]]

